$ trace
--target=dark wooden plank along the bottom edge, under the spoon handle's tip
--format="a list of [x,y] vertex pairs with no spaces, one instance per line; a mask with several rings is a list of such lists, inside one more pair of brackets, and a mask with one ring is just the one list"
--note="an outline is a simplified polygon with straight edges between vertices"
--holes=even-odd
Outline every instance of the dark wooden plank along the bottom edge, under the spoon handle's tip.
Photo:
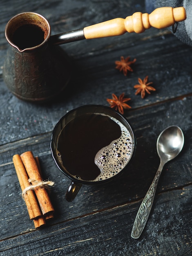
[[191,255],[191,193],[187,186],[157,195],[138,240],[130,233],[141,201],[1,241],[1,255]]

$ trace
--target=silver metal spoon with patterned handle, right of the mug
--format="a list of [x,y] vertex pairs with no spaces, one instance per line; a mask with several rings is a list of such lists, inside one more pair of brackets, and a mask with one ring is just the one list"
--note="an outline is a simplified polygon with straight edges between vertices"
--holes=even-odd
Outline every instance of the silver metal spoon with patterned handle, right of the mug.
[[152,208],[156,187],[159,181],[159,177],[163,166],[168,161],[174,159],[182,150],[184,144],[184,135],[178,126],[169,126],[157,139],[157,153],[160,157],[160,165],[154,177],[154,180],[141,203],[138,213],[136,215],[134,225],[132,228],[132,238],[139,238],[145,227],[147,219],[150,215]]

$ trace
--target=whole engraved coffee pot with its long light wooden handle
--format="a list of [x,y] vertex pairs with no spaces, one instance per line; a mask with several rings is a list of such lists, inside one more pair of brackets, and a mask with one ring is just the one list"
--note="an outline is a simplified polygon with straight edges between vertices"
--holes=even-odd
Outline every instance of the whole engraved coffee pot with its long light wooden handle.
[[142,33],[151,26],[170,27],[185,20],[183,7],[161,7],[152,13],[136,12],[83,29],[51,36],[51,27],[38,13],[20,13],[6,25],[9,42],[3,78],[16,97],[26,101],[48,101],[60,94],[70,80],[71,64],[67,54],[56,45],[83,39],[119,36],[125,32]]

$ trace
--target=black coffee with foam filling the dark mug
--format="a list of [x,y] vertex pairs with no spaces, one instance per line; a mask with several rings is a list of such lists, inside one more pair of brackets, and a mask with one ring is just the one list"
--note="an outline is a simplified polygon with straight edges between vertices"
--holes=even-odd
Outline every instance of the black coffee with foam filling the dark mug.
[[133,150],[127,128],[114,117],[87,113],[61,130],[57,155],[65,171],[83,181],[107,180],[129,162]]

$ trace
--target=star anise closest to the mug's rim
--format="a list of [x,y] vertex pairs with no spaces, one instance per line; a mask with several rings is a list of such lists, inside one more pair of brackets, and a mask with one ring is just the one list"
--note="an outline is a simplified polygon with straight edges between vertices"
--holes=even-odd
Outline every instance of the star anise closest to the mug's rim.
[[117,97],[114,93],[112,94],[112,99],[107,99],[107,102],[110,104],[111,108],[118,109],[118,111],[123,114],[123,108],[131,108],[126,101],[129,101],[130,98],[124,98],[125,93],[123,92],[119,97]]

